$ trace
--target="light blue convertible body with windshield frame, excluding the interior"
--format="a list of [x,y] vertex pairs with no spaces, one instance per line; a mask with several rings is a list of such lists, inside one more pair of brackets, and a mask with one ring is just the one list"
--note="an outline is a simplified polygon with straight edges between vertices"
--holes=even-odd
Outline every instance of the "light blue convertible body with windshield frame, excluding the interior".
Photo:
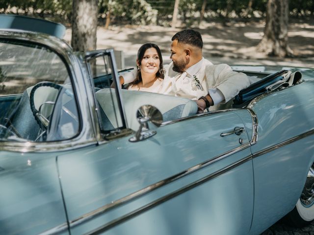
[[[246,108],[163,122],[144,141],[129,141],[136,130],[104,140],[92,127],[95,100],[79,55],[38,33],[0,37],[60,53],[79,91],[82,122],[63,148],[1,142],[0,234],[255,235],[298,201],[314,163],[314,70],[291,68],[303,82]],[[235,127],[245,132],[221,136]]]

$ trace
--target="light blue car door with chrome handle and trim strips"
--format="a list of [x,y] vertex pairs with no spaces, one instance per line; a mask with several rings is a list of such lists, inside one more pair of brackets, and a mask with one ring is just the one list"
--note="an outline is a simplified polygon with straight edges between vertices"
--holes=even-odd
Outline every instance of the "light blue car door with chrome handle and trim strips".
[[[119,96],[112,99],[119,101]],[[57,159],[71,234],[249,232],[254,180],[250,112],[171,121],[155,136],[131,142],[123,107],[107,102],[119,108],[118,128],[104,130],[99,124],[107,138],[98,146]],[[236,135],[235,127],[244,132]]]

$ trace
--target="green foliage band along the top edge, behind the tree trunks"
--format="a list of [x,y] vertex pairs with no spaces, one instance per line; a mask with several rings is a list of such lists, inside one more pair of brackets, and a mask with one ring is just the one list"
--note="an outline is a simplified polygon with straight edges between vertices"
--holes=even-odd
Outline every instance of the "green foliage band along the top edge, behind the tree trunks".
[[[197,22],[211,18],[249,18],[266,15],[267,0],[180,0],[178,17]],[[170,24],[175,0],[98,0],[99,19],[113,24]],[[18,13],[70,23],[72,0],[0,0],[0,13]],[[314,17],[314,0],[293,0],[290,16]],[[54,19],[58,18],[58,19]],[[100,21],[102,22],[102,21]],[[168,22],[168,23],[167,23]]]

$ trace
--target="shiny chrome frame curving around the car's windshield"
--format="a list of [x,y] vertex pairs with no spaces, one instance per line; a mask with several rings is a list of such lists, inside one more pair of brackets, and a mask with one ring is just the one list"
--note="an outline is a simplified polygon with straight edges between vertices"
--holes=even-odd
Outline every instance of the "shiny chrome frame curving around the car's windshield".
[[53,142],[32,142],[27,140],[26,142],[0,141],[0,150],[15,152],[60,151],[97,143],[91,124],[90,105],[86,99],[86,94],[90,95],[86,90],[88,87],[87,74],[83,74],[83,71],[81,71],[78,57],[73,54],[72,48],[65,41],[53,36],[22,30],[0,30],[0,38],[36,43],[55,51],[64,61],[69,71],[69,76],[73,81],[72,85],[80,118],[80,130],[78,135],[72,139]]

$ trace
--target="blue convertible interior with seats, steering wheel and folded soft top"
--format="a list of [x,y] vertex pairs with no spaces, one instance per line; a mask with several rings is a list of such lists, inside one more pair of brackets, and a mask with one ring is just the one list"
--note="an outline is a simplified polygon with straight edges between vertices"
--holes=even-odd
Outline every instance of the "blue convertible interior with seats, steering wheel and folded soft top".
[[[130,70],[119,73],[128,71]],[[254,74],[257,76],[252,76]],[[233,107],[246,107],[254,97],[270,91],[268,89],[273,84],[279,84],[275,87],[276,90],[287,87],[287,74],[291,76],[291,72],[286,70],[267,76],[248,72],[248,75],[251,75],[252,85],[235,96]],[[298,83],[302,74],[297,71],[293,73],[293,76],[290,84],[288,81],[288,86]],[[115,89],[110,88],[111,82],[111,73],[94,78],[100,126],[105,132],[122,125],[121,119],[118,118],[121,116],[115,98]],[[124,88],[121,90],[121,99],[128,126],[133,130],[137,130],[139,127],[136,112],[140,106],[145,104],[155,106],[161,112],[163,122],[193,116],[197,113],[196,103],[183,97],[129,91]],[[10,135],[17,141],[56,141],[72,138],[79,130],[79,116],[70,84],[37,83],[35,86],[28,87],[23,94],[1,97],[0,108],[2,112],[0,123],[3,126],[1,128],[2,138]],[[4,131],[3,129],[8,130]]]

